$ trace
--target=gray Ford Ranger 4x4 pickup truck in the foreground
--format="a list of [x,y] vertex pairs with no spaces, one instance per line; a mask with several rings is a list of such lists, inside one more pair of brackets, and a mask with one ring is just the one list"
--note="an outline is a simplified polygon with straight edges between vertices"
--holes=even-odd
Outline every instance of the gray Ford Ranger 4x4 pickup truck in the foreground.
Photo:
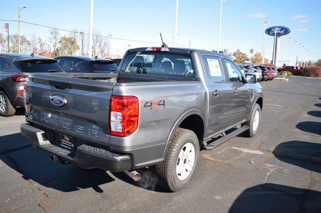
[[[154,169],[172,191],[195,174],[200,149],[256,134],[263,105],[255,75],[190,48],[129,49],[118,73],[33,73],[21,133],[52,161],[83,168]],[[221,136],[221,137],[219,137]]]

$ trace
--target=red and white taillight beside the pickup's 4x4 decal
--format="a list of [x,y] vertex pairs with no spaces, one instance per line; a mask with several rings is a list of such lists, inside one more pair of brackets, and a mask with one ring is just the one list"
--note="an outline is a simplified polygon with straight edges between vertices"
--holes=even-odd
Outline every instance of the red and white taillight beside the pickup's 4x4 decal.
[[111,95],[109,104],[110,135],[125,137],[138,126],[138,98]]

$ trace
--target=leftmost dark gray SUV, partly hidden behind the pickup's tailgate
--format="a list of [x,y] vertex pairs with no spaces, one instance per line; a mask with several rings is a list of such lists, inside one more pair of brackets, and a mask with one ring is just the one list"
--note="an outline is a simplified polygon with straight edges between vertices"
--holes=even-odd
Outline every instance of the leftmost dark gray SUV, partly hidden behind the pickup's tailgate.
[[0,115],[12,116],[24,106],[24,81],[30,73],[63,72],[57,60],[40,55],[0,53]]

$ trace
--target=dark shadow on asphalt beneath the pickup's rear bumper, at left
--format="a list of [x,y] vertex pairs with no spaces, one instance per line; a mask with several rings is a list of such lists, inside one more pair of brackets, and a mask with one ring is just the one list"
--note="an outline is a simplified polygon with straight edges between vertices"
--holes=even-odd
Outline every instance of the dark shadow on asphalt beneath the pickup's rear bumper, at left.
[[102,169],[82,169],[73,164],[51,162],[49,153],[35,149],[27,139],[14,148],[6,148],[8,141],[15,143],[15,138],[20,136],[20,133],[0,136],[0,160],[20,172],[24,179],[64,192],[90,187],[103,192],[99,185],[114,180]]

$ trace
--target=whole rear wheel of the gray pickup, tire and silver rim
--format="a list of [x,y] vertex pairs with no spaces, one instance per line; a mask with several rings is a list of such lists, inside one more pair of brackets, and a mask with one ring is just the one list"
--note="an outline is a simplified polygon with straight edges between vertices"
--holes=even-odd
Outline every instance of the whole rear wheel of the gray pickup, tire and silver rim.
[[178,128],[166,159],[155,165],[158,184],[171,191],[186,187],[193,178],[200,158],[200,144],[189,129]]

